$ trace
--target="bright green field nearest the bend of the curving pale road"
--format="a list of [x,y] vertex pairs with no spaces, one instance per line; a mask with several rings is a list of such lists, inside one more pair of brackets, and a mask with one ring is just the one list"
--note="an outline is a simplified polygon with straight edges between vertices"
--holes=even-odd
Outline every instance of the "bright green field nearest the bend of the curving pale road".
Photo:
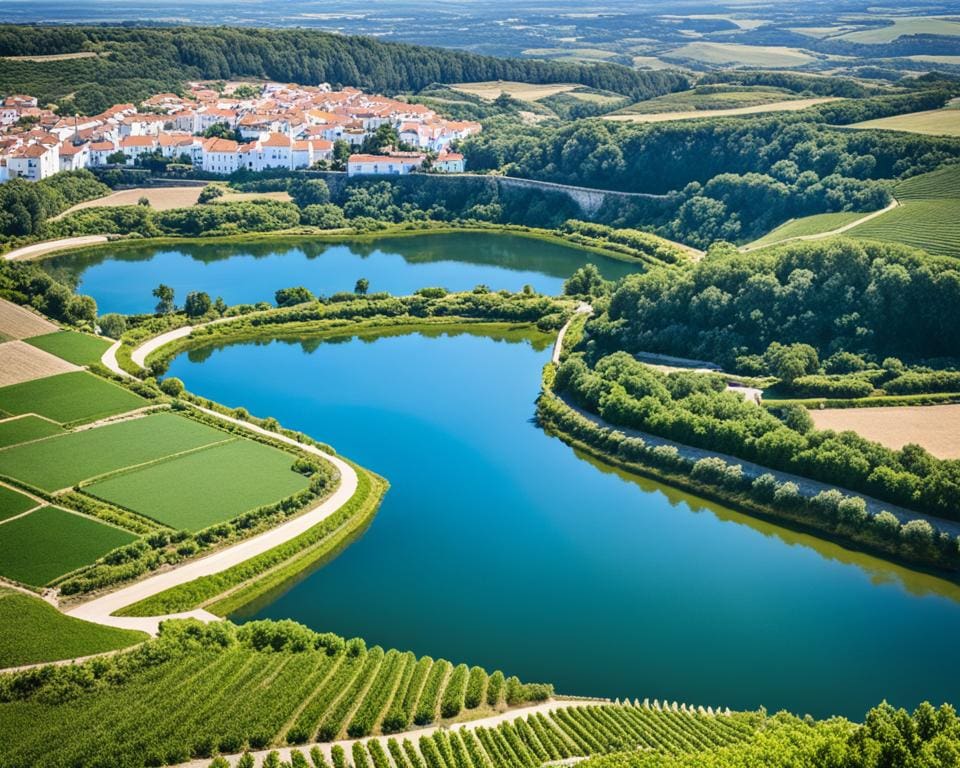
[[288,453],[252,440],[234,440],[84,488],[178,530],[199,531],[242,512],[291,496],[307,478]]

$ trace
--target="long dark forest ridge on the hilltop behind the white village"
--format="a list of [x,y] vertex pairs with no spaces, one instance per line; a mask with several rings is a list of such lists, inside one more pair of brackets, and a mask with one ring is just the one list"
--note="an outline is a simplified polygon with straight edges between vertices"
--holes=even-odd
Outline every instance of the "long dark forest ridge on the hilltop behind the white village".
[[677,72],[499,59],[304,29],[0,26],[0,56],[79,51],[100,55],[55,62],[0,61],[0,91],[25,91],[45,103],[95,113],[120,100],[178,90],[189,79],[263,77],[384,93],[416,91],[435,82],[574,82],[633,100],[689,84]]

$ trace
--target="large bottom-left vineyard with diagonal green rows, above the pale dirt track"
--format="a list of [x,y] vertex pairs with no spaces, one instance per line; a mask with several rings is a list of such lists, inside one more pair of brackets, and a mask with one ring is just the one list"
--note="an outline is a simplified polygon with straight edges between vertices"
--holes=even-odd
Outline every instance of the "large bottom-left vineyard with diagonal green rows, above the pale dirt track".
[[[0,677],[0,766],[172,764],[377,734],[388,713],[392,730],[408,728],[414,711],[430,723],[442,710],[450,722],[465,706],[464,681],[486,680],[466,669],[289,621],[169,622],[121,656]],[[502,690],[512,705],[553,692],[513,677]],[[499,693],[473,702],[472,717],[508,706]]]

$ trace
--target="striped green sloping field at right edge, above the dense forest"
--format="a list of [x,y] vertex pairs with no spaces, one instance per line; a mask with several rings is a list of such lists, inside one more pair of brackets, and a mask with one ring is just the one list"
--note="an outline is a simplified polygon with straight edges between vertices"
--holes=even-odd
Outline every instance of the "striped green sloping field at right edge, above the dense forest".
[[899,208],[854,227],[849,234],[960,257],[960,165],[902,181],[894,194],[901,202]]

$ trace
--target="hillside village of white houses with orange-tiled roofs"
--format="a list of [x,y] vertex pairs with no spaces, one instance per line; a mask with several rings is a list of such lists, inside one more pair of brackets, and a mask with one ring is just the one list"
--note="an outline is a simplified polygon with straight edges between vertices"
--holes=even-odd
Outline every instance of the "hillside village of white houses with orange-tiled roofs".
[[[396,146],[363,152],[389,126]],[[62,116],[29,95],[0,107],[0,182],[38,181],[59,171],[138,165],[149,158],[205,173],[307,168],[356,174],[464,170],[451,144],[481,127],[446,120],[420,104],[329,85],[191,83],[99,115]]]

